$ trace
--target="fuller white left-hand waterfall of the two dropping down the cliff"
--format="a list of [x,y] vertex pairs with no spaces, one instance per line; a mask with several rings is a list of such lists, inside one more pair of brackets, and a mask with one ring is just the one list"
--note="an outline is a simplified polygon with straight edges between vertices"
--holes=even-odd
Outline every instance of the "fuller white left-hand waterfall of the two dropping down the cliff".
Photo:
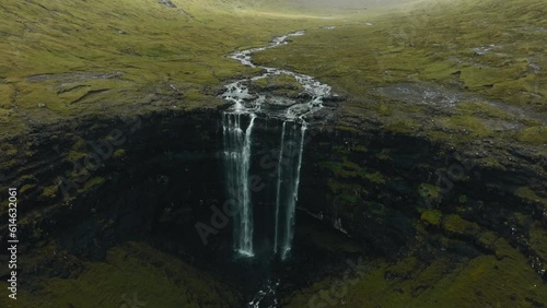
[[[242,116],[249,116],[244,131]],[[243,256],[253,257],[253,206],[251,203],[248,173],[251,167],[251,135],[255,114],[226,112],[223,115],[224,174],[228,194],[237,206],[234,216],[234,249]]]

